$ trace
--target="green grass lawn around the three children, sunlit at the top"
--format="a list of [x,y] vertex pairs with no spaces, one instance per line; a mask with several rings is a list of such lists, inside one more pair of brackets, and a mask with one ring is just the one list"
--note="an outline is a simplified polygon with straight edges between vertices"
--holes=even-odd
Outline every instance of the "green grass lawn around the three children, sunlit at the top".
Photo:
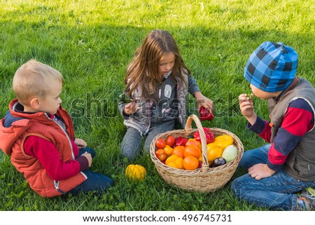
[[[76,136],[97,150],[91,169],[115,181],[102,196],[41,198],[1,152],[0,210],[266,210],[238,202],[230,183],[214,193],[186,192],[165,184],[150,156],[123,159],[118,95],[134,50],[152,29],[167,29],[216,104],[215,120],[202,124],[234,132],[244,149],[258,147],[264,142],[246,130],[237,102],[249,90],[246,60],[263,41],[282,41],[299,54],[298,76],[315,84],[314,15],[311,0],[0,1],[0,116],[14,98],[12,78],[21,64],[34,58],[55,67],[65,79],[62,106],[73,116]],[[268,118],[262,100],[255,99],[255,111]],[[144,165],[144,182],[125,179],[129,163]]]

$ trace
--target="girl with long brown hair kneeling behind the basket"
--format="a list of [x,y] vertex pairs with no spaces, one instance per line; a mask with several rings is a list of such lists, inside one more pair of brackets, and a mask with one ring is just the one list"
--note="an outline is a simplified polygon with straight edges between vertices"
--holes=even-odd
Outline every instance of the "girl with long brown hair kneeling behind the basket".
[[183,62],[173,36],[165,30],[155,29],[146,36],[127,67],[125,84],[124,94],[131,102],[124,99],[119,103],[127,127],[120,151],[131,160],[143,144],[148,154],[153,138],[174,130],[176,120],[185,126],[188,93],[197,100],[198,109],[214,108]]

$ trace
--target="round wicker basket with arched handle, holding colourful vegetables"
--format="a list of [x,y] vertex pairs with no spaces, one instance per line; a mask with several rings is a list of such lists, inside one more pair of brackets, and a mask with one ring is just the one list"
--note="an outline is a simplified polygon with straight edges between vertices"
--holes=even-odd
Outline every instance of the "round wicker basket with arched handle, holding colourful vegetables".
[[[197,129],[191,128],[192,121],[195,121]],[[168,165],[162,163],[155,156],[155,142],[159,139],[166,139],[167,136],[173,135],[175,138],[179,136],[188,137],[192,136],[195,131],[200,132],[200,137],[202,141],[202,167],[196,170],[180,170],[176,168],[171,168]],[[169,132],[161,133],[157,135],[150,145],[150,154],[155,168],[162,179],[165,180],[167,184],[178,186],[186,191],[197,191],[202,193],[208,193],[216,191],[228,183],[237,169],[237,165],[241,159],[244,152],[244,146],[241,144],[239,138],[228,130],[223,130],[220,128],[211,128],[214,132],[214,137],[219,135],[231,135],[234,139],[234,145],[238,149],[237,158],[235,158],[230,163],[218,166],[216,168],[209,168],[209,163],[207,160],[207,142],[206,135],[202,128],[199,118],[196,115],[190,115],[188,117],[185,130],[172,130]],[[206,160],[205,160],[206,159]]]

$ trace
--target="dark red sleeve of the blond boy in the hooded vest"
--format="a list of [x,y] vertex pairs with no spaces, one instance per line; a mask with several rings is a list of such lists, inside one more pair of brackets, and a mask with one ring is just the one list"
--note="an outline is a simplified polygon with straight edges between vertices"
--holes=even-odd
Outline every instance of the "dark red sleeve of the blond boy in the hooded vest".
[[38,158],[48,175],[56,181],[73,177],[88,168],[88,161],[84,156],[80,156],[76,160],[62,161],[56,147],[41,137],[27,137],[24,149],[27,155]]

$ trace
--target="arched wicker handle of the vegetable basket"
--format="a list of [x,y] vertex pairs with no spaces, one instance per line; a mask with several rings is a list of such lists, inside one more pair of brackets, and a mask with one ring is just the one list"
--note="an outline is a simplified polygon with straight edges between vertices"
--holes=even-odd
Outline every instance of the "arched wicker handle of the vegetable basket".
[[185,125],[185,130],[186,132],[190,132],[192,130],[191,128],[191,123],[195,121],[197,129],[200,133],[200,139],[202,142],[202,172],[207,172],[209,170],[209,163],[208,163],[208,154],[207,154],[207,139],[206,139],[206,134],[204,133],[204,128],[202,127],[202,124],[195,114],[191,114],[188,116],[186,125]]

